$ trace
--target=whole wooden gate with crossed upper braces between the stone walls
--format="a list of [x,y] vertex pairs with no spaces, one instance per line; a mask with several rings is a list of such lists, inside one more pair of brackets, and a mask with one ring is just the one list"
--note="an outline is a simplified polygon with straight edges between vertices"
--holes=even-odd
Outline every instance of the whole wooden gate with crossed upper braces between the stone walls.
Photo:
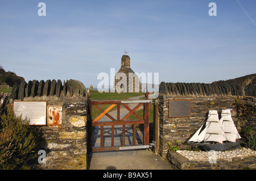
[[[148,95],[149,93],[147,92],[145,99],[137,100],[90,100],[89,95],[88,111],[90,116],[88,126],[91,129],[88,129],[88,146],[91,148],[90,151],[149,148],[150,99],[148,99]],[[106,110],[102,110],[99,106],[102,104],[110,104],[110,106]],[[137,104],[137,106],[130,108],[130,104]],[[92,106],[101,112],[93,120]],[[135,112],[140,107],[143,107],[143,118]],[[115,116],[110,115],[110,110],[113,113],[113,108]],[[128,111],[128,113],[125,113],[125,116],[122,115],[122,110],[124,109]],[[131,115],[134,115],[137,119],[127,120]],[[106,117],[108,117],[108,120],[106,120]],[[139,129],[137,125],[142,126]],[[141,130],[142,128],[143,130]]]

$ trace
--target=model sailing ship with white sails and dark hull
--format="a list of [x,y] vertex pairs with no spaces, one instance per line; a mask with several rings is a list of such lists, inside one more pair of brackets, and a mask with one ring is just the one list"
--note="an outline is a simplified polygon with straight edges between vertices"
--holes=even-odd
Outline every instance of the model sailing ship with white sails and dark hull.
[[205,124],[188,140],[189,144],[201,146],[205,151],[238,149],[241,142],[230,110],[222,110],[221,119],[216,110],[209,111]]

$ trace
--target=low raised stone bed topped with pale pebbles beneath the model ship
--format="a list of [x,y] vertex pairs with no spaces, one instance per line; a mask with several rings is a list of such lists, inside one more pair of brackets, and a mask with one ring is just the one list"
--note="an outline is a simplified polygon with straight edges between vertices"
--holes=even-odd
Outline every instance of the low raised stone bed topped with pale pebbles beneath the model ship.
[[247,148],[227,151],[168,151],[167,159],[180,170],[256,169],[256,151]]

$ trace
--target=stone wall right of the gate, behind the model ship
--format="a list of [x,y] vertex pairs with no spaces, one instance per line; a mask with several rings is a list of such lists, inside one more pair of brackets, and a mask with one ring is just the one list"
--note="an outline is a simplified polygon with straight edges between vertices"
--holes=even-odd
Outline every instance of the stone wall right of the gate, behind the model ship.
[[[209,110],[230,108],[234,123],[237,123],[237,113],[234,103],[237,98],[255,107],[254,96],[244,96],[241,86],[207,84],[207,83],[165,83],[159,86],[159,154],[166,155],[170,148],[167,142],[175,145],[175,140],[182,143],[181,148],[192,134],[203,125]],[[190,117],[169,117],[170,99],[191,100]],[[255,122],[255,121],[253,121]],[[254,124],[254,123],[253,123]],[[255,129],[255,125],[254,125]]]

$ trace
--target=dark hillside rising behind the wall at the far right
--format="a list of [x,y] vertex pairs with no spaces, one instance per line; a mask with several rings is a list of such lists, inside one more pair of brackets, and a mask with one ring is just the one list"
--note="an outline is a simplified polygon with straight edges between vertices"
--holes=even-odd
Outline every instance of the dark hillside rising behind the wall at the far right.
[[226,81],[215,81],[212,83],[230,83],[233,85],[238,84],[238,85],[242,86],[242,88],[245,88],[249,84],[256,84],[256,74],[245,75],[243,77],[228,79]]

